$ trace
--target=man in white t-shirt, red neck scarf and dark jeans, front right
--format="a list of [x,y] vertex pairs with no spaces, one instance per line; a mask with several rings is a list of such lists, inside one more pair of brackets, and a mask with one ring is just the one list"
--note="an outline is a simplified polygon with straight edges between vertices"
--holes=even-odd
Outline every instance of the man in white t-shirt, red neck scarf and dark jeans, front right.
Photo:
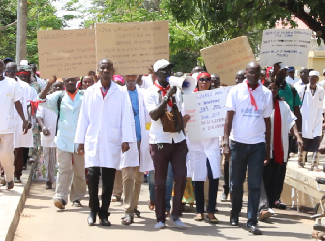
[[[232,210],[230,223],[238,225],[243,205],[243,183],[248,166],[248,231],[261,235],[257,227],[257,213],[264,162],[270,160],[272,93],[260,82],[261,67],[250,62],[247,79],[233,87],[226,101],[224,154],[231,156]],[[230,139],[230,144],[229,144]],[[230,146],[230,147],[229,147]],[[264,161],[266,160],[266,161]]]

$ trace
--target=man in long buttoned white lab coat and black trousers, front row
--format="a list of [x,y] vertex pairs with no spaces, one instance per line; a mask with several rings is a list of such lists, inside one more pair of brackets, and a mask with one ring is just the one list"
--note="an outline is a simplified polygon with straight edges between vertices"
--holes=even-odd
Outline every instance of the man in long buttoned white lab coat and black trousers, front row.
[[[88,168],[89,226],[94,225],[97,214],[102,226],[111,225],[108,208],[115,171],[120,166],[121,149],[122,153],[128,151],[129,143],[134,141],[133,115],[127,93],[112,81],[113,72],[112,61],[99,61],[100,81],[85,91],[75,136],[78,153],[85,155],[85,167]],[[103,183],[101,207],[98,199],[100,175]]]

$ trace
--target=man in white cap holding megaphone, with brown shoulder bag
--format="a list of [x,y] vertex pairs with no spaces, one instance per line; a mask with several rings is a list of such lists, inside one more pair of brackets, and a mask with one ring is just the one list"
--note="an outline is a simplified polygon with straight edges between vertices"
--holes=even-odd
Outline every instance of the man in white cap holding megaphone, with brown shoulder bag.
[[[152,119],[149,130],[150,154],[155,170],[155,205],[157,224],[155,228],[165,227],[166,222],[166,178],[169,162],[174,174],[174,199],[171,221],[177,228],[186,228],[180,220],[182,214],[182,197],[186,186],[186,154],[187,144],[184,135],[184,125],[190,119],[189,115],[182,117],[182,90],[193,88],[190,80],[174,79],[176,86],[170,86],[170,77],[175,65],[167,60],[158,60],[153,68],[156,76],[155,85],[148,89],[145,105]],[[183,87],[184,86],[184,87]],[[192,92],[192,91],[191,91]]]

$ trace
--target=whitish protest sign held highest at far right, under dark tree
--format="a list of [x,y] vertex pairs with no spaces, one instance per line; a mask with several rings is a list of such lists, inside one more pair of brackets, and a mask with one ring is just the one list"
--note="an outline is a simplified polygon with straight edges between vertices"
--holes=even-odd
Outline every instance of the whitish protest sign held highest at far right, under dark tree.
[[286,66],[306,67],[312,30],[263,30],[260,65],[273,66],[282,62]]

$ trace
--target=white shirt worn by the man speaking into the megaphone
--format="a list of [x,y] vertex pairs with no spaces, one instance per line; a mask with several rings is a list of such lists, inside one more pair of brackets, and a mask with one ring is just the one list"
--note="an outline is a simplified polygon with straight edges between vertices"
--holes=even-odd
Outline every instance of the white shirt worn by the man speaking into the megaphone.
[[[148,110],[148,113],[153,111],[160,105],[160,99],[159,99],[159,92],[160,90],[155,85],[151,86],[147,94],[144,98],[144,103],[146,105],[146,108]],[[175,94],[176,96],[176,104],[178,107],[178,110],[182,110],[182,93],[181,90],[177,89],[177,92]],[[171,107],[167,105],[167,110],[171,111]],[[181,132],[164,132],[163,126],[161,123],[160,118],[158,120],[152,120],[150,130],[149,130],[149,144],[158,144],[158,143],[172,143],[174,141],[175,143],[179,143],[183,140],[185,140],[184,133]]]

